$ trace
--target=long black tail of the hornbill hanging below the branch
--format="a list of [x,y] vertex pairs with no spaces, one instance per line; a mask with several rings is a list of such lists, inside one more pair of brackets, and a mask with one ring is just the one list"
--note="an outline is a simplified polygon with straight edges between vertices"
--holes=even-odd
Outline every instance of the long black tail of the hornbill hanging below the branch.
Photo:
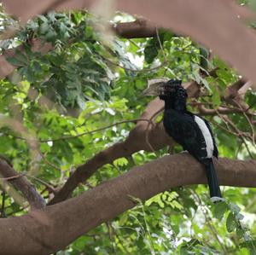
[[207,172],[207,180],[210,188],[211,197],[217,196],[221,198],[222,196],[221,196],[219,185],[218,185],[218,177],[216,175],[216,171],[215,171],[212,159],[205,159],[203,164],[205,165],[206,172]]

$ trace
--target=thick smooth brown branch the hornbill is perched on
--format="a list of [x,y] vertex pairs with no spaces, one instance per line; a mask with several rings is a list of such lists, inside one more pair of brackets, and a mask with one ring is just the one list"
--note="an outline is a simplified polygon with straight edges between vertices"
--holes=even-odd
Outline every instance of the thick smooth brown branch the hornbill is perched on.
[[[219,182],[256,186],[256,161],[219,159]],[[49,254],[90,229],[135,206],[129,196],[147,200],[169,188],[207,183],[202,166],[189,154],[176,154],[134,167],[73,199],[23,217],[0,219],[2,254]],[[26,240],[26,244],[24,244]]]

